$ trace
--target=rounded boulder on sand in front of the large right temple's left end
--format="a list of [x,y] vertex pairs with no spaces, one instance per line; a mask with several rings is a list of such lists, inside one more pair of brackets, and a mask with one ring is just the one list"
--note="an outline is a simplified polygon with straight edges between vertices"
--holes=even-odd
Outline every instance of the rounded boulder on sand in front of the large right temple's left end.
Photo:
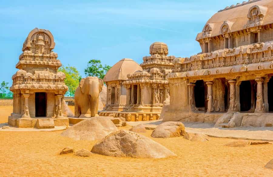
[[151,136],[154,138],[171,138],[181,137],[185,134],[185,126],[181,122],[164,122],[153,130]]

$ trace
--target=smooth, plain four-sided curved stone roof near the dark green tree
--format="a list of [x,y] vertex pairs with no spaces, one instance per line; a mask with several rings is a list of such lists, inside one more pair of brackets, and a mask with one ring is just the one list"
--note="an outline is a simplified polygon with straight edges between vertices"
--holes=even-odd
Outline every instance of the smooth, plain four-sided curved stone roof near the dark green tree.
[[127,74],[143,69],[134,60],[123,58],[112,66],[103,78],[103,82],[127,80]]

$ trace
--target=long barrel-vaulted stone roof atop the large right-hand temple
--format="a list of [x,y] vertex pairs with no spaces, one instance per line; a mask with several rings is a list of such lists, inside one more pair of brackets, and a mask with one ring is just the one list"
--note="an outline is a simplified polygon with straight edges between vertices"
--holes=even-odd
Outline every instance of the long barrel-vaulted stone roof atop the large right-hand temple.
[[[223,30],[224,32],[241,31],[257,25],[255,22],[260,20],[261,25],[272,24],[272,9],[272,0],[249,0],[248,2],[226,7],[207,21],[202,33],[197,34],[196,40],[206,38],[208,35],[209,37],[221,35]],[[254,22],[252,23],[251,20]]]

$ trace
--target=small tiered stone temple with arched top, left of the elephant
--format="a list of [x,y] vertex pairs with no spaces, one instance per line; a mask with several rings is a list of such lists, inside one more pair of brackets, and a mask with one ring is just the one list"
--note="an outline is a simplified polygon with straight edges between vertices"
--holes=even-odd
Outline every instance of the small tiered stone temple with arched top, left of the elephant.
[[68,126],[68,118],[63,115],[62,98],[68,87],[64,83],[62,66],[53,52],[55,42],[50,31],[33,29],[23,43],[23,53],[19,56],[12,76],[13,113],[8,124],[17,127],[54,128]]

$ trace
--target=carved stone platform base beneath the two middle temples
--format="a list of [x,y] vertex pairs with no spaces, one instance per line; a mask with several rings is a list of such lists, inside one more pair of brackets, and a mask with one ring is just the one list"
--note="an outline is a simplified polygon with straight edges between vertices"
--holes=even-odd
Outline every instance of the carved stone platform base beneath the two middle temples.
[[160,112],[99,111],[99,116],[123,117],[126,121],[152,121],[160,118]]

